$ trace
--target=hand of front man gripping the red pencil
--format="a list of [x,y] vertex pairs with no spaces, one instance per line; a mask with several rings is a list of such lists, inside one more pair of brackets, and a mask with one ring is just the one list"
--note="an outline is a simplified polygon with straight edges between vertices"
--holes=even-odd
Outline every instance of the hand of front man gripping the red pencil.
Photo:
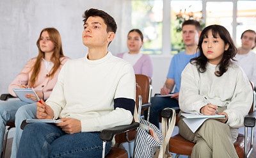
[[[40,102],[42,102],[42,104]],[[38,119],[52,119],[54,117],[52,108],[45,104],[44,100],[41,99],[40,102],[36,102],[36,106],[38,106],[36,117]]]

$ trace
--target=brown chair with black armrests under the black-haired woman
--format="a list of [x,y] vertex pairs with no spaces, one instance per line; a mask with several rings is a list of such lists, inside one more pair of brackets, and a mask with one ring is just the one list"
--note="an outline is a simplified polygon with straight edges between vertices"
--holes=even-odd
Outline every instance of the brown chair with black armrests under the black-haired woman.
[[[253,83],[251,82],[251,84],[253,89]],[[249,114],[244,117],[245,136],[239,133],[237,141],[234,143],[239,158],[249,157],[253,150],[253,128],[255,127],[256,120],[255,96],[255,91],[253,90],[253,104]],[[163,115],[163,113],[165,115]],[[166,113],[168,115],[166,115]],[[172,116],[172,111],[170,111],[169,109],[163,109],[162,116],[164,116],[165,118],[171,118],[170,116]],[[248,127],[252,128],[252,135],[250,141],[248,141]],[[177,154],[175,158],[179,157],[179,155],[191,155],[194,146],[195,143],[182,138],[180,134],[173,136],[172,138],[170,138],[169,141],[169,151]],[[250,146],[250,148],[248,149],[247,146]]]

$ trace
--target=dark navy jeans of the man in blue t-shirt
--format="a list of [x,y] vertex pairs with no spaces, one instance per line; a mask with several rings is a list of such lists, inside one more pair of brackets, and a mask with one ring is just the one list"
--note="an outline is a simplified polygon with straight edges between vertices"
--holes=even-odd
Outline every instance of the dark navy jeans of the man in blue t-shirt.
[[[159,128],[159,116],[162,109],[166,107],[179,107],[179,101],[170,97],[152,97],[151,103],[149,122],[156,125],[157,128]],[[145,113],[145,118],[147,118],[147,112]]]

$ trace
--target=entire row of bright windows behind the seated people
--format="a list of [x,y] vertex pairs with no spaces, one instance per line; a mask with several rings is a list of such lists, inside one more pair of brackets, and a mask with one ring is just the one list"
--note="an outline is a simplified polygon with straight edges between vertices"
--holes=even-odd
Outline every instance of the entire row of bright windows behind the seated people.
[[255,6],[256,1],[248,0],[132,0],[132,28],[143,32],[141,51],[145,54],[169,55],[184,49],[179,15],[186,20],[193,17],[205,26],[224,26],[240,46],[243,31],[255,30]]

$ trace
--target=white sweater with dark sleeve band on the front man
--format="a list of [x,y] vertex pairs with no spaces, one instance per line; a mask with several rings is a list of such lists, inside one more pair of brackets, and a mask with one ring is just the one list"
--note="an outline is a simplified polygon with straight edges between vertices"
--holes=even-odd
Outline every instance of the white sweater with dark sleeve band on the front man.
[[104,58],[72,59],[62,68],[46,104],[56,118],[81,120],[82,132],[132,122],[135,75],[132,66],[108,52]]

